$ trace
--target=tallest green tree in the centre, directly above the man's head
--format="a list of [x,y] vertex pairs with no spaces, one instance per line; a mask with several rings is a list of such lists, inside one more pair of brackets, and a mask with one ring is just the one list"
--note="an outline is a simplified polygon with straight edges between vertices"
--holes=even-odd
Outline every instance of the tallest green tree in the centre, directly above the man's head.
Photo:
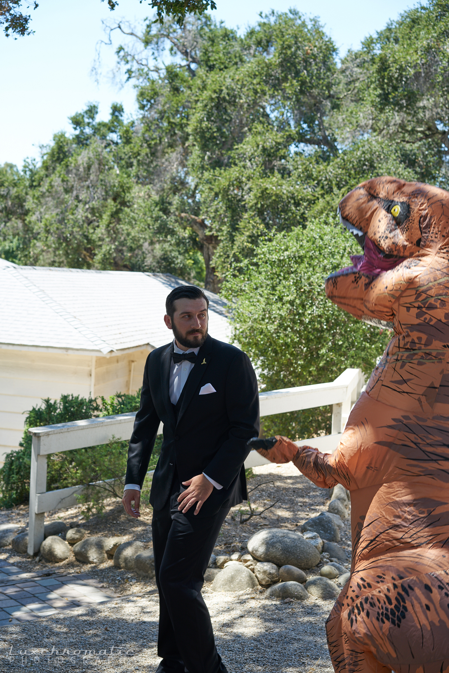
[[[329,110],[339,105],[333,91],[335,45],[316,20],[306,21],[296,11],[273,12],[242,38],[207,15],[186,17],[182,26],[174,20],[164,26],[148,22],[140,35],[122,24],[110,30],[129,38],[117,55],[125,77],[139,86],[146,151],[141,155],[147,162],[139,170],[148,176],[148,165],[158,166],[158,180],[163,177],[165,194],[174,195],[171,204],[178,208],[180,224],[190,225],[199,238],[205,285],[218,291],[226,269],[215,273],[215,253],[221,248],[221,257],[227,256],[236,229],[242,234],[242,254],[246,239],[250,254],[258,236],[277,228],[277,221],[269,221],[277,201],[271,199],[270,180],[279,188],[277,195],[288,194],[272,214],[289,227],[298,224],[298,212],[304,215],[296,186],[283,184],[289,179],[283,164],[304,146],[319,148],[324,157],[337,153],[326,125]],[[162,61],[166,48],[172,56],[168,65]],[[261,204],[267,217],[255,228],[244,213],[235,222],[232,212],[218,220],[214,212],[223,198],[229,204],[238,195],[234,178],[242,170],[249,176],[254,168],[248,151],[261,156],[261,166],[254,189],[246,185],[245,194],[252,192],[254,203],[271,201]],[[260,178],[267,178],[267,185],[261,186]]]

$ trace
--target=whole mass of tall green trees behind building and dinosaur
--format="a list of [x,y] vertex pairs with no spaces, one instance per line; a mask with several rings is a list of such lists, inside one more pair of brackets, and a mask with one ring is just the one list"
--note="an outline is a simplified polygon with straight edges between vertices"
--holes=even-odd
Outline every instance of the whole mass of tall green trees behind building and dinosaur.
[[114,104],[98,121],[89,104],[39,166],[0,170],[3,257],[169,272],[217,290],[260,239],[329,214],[366,176],[448,182],[442,0],[405,12],[341,65],[318,20],[296,10],[239,36],[202,13],[207,2],[182,21],[195,3],[172,5],[181,14],[163,25],[110,26],[124,38],[116,55],[138,118]]

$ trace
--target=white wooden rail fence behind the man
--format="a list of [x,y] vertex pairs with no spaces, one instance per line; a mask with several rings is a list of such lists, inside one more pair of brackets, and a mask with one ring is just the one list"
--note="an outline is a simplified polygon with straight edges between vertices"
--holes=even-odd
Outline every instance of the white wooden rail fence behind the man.
[[[261,417],[332,404],[331,435],[314,437],[298,443],[308,444],[324,453],[332,453],[339,444],[339,437],[363,384],[364,375],[361,369],[345,369],[343,374],[331,383],[261,392],[259,394]],[[45,512],[76,505],[76,494],[81,493],[85,488],[84,486],[73,486],[67,489],[46,491],[47,456],[87,446],[106,444],[112,437],[129,439],[133,431],[134,418],[135,412],[30,428],[32,454],[28,554],[35,554],[44,539]],[[162,423],[158,433],[162,433]],[[245,467],[254,467],[266,462],[269,461],[252,451],[245,461]]]

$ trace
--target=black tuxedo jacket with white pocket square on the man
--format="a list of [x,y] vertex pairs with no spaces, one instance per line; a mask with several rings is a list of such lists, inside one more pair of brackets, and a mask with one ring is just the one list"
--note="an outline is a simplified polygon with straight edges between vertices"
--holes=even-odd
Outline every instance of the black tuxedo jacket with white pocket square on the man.
[[[176,466],[180,482],[205,472],[223,486],[213,489],[198,514],[211,516],[247,497],[243,464],[250,448],[246,442],[259,431],[256,375],[246,353],[207,336],[182,390],[176,420],[168,391],[172,349],[171,342],[147,357],[125,483],[142,487],[162,421],[164,441],[153,474],[151,505],[162,509],[166,504]],[[200,395],[207,383],[216,392]]]

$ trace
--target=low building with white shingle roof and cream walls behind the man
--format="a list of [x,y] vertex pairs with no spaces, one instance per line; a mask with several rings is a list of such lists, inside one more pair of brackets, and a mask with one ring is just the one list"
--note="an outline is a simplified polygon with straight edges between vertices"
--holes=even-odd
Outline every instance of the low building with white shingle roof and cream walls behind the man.
[[[149,351],[170,341],[170,274],[19,267],[0,259],[0,464],[42,398],[135,392]],[[209,298],[209,333],[230,341],[225,304]]]

